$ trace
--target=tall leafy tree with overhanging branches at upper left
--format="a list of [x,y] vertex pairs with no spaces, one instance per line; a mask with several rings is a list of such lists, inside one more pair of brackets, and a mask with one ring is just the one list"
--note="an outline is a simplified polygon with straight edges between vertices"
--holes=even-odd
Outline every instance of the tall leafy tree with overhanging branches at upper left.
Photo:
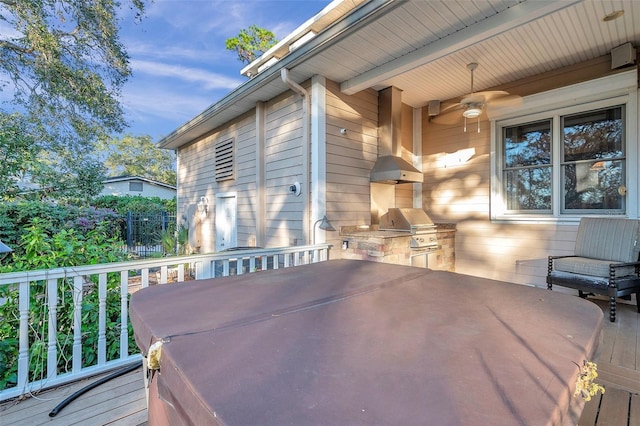
[[[140,18],[144,0],[127,1]],[[124,129],[119,97],[131,69],[120,9],[118,0],[0,0],[0,83],[12,96],[0,107],[0,155],[11,160],[0,168],[5,198],[24,176],[50,192],[78,191],[87,176],[77,171],[95,140]],[[34,161],[44,154],[47,161]]]

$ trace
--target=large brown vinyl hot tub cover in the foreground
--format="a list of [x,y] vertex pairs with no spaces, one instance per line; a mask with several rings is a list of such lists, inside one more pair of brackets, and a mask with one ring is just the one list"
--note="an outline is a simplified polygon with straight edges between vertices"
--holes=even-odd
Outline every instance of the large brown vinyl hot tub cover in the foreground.
[[162,340],[149,424],[576,424],[602,311],[577,297],[331,260],[131,297]]

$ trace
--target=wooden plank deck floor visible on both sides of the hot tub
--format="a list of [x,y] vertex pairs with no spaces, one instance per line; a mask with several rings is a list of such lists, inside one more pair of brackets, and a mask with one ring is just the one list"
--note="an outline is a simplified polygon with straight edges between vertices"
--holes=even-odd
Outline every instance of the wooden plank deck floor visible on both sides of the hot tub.
[[[606,392],[585,405],[581,426],[640,425],[640,315],[635,306],[618,305],[618,320],[608,320],[607,303],[596,303],[605,315],[598,360]],[[61,410],[49,413],[66,397],[100,377],[87,379],[22,401],[0,405],[0,425],[144,425],[146,399],[141,369],[96,387]]]

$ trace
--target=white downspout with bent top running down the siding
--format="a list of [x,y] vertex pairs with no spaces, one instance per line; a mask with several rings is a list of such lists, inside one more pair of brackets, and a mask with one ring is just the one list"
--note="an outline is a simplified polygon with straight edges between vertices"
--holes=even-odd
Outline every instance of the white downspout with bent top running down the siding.
[[280,70],[282,81],[289,86],[291,90],[302,97],[302,234],[306,244],[311,244],[310,239],[310,223],[309,223],[309,111],[310,99],[309,92],[289,77],[289,70],[283,68]]

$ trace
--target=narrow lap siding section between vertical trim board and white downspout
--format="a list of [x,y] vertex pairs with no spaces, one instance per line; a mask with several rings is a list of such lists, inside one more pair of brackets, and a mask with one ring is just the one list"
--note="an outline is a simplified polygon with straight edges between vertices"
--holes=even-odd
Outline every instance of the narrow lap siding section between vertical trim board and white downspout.
[[302,98],[286,92],[269,101],[266,108],[265,245],[304,244],[303,197],[296,197],[288,191],[294,182],[308,184],[302,176]]

